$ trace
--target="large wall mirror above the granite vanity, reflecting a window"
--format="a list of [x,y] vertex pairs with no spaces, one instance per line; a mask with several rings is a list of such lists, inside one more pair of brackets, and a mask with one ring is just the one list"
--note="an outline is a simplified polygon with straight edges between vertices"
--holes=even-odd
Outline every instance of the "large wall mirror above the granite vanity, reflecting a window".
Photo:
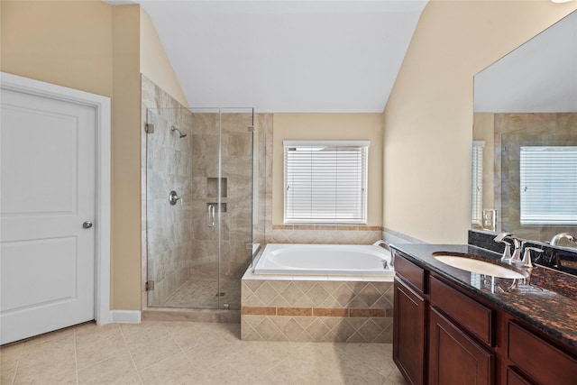
[[473,112],[472,228],[577,237],[577,11],[477,74]]

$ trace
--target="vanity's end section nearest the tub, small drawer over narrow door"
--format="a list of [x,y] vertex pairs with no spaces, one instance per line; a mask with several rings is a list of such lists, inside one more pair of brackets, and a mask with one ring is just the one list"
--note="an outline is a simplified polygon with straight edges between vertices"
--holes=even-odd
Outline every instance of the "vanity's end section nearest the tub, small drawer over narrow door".
[[421,385],[426,383],[425,270],[398,257],[395,269],[393,361],[408,383]]

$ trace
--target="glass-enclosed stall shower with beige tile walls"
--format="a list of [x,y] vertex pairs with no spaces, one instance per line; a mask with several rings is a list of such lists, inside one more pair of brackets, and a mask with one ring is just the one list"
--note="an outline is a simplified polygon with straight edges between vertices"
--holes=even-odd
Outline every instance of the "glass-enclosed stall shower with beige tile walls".
[[147,307],[240,309],[254,131],[252,108],[146,109]]

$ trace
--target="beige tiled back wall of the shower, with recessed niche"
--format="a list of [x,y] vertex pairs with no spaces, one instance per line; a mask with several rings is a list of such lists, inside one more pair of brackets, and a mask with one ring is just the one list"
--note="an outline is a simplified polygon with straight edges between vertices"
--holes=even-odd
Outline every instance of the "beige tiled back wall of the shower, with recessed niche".
[[[196,113],[192,122],[193,226],[197,258],[193,275],[217,275],[215,228],[208,227],[208,205],[218,215],[218,114]],[[221,280],[240,279],[251,261],[252,125],[251,114],[223,113],[221,199]]]

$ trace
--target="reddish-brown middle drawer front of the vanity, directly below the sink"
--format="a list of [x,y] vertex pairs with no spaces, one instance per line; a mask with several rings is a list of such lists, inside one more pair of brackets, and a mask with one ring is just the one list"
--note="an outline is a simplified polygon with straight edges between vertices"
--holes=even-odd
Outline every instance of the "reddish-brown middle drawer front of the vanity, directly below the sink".
[[494,346],[495,315],[489,307],[431,277],[431,303],[485,344]]

